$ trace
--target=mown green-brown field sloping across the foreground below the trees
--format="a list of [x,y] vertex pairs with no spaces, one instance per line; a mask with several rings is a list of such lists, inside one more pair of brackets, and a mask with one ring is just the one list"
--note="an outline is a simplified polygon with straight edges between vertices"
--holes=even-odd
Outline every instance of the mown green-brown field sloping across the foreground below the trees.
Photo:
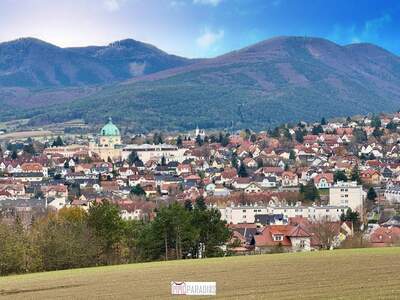
[[0,298],[165,299],[175,280],[216,281],[219,299],[399,299],[399,271],[400,248],[226,257],[3,277]]

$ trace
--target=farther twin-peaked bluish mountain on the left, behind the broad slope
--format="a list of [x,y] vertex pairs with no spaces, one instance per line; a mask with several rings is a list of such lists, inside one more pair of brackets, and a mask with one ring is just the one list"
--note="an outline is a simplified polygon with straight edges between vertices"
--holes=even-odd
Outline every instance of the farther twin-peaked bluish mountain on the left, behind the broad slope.
[[0,87],[105,84],[188,64],[132,39],[107,46],[60,48],[34,38],[0,43]]

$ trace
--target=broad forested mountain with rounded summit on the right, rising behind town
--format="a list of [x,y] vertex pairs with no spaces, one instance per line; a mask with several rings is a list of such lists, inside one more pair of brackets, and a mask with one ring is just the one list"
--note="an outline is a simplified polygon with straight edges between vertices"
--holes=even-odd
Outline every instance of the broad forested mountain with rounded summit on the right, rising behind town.
[[[99,55],[93,54],[97,48],[77,52]],[[182,130],[197,124],[265,129],[282,122],[397,110],[400,58],[371,44],[277,37],[76,98],[16,111],[33,117],[32,124],[75,118],[101,123],[111,115],[134,130]]]

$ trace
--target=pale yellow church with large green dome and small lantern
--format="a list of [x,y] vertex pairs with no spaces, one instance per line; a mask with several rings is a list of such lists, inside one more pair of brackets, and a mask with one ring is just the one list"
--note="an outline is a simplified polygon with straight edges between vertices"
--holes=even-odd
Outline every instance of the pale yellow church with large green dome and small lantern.
[[90,144],[90,150],[96,153],[104,161],[118,161],[121,159],[122,145],[121,134],[117,126],[108,119],[108,123],[103,126],[97,143]]

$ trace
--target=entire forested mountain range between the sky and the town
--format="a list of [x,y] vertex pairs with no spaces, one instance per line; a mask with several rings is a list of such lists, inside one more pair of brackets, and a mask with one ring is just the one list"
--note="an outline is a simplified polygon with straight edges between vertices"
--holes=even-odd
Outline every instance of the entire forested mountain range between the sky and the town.
[[138,130],[250,127],[397,110],[400,58],[378,46],[277,37],[212,59],[133,40],[62,49],[0,44],[2,118],[84,118]]

